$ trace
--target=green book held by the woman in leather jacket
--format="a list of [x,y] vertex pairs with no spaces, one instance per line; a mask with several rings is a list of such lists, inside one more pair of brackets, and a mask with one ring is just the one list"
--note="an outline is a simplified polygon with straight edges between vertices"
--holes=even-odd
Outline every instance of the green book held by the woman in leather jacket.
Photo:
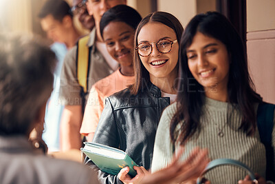
[[90,142],[85,142],[85,146],[81,147],[80,150],[103,172],[117,175],[122,168],[129,166],[129,175],[134,177],[137,174],[133,169],[133,166],[137,164],[122,150]]

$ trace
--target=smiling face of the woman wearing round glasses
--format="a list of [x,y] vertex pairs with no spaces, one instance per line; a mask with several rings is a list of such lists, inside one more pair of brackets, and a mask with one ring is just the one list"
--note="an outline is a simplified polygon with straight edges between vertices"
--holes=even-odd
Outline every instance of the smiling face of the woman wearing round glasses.
[[140,30],[137,36],[137,44],[151,43],[152,52],[148,57],[140,56],[142,64],[150,74],[150,80],[157,78],[170,78],[177,75],[177,61],[179,54],[179,43],[175,42],[172,45],[170,52],[163,54],[156,48],[157,41],[167,39],[175,41],[177,36],[172,28],[169,28],[163,23],[149,22],[146,23]]

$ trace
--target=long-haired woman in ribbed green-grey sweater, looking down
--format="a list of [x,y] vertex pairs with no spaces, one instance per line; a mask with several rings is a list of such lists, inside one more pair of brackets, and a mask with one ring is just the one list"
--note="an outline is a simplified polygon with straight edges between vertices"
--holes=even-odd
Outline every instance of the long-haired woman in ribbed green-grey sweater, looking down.
[[[265,146],[256,126],[262,99],[254,91],[236,30],[222,14],[198,14],[188,23],[180,49],[177,103],[166,108],[159,121],[152,171],[166,167],[179,145],[186,150],[183,159],[199,146],[208,148],[211,160],[241,161],[265,183]],[[246,174],[227,165],[205,176],[211,183],[253,183]]]

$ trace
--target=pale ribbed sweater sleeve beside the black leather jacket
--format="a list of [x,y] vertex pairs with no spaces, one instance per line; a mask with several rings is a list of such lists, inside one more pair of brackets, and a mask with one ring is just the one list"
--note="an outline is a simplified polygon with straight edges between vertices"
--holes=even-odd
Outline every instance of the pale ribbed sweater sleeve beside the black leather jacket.
[[[175,103],[174,103],[175,104]],[[152,172],[162,170],[169,165],[173,159],[174,145],[170,141],[170,121],[173,117],[172,110],[175,105],[170,105],[162,113],[162,117],[157,127],[155,145],[153,151]]]

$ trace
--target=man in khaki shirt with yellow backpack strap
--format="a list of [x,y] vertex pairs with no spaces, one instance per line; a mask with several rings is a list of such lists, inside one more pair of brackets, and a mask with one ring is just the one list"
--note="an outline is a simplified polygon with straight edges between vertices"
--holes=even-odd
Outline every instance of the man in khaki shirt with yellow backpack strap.
[[[88,0],[86,3],[90,16],[94,17],[95,28],[91,30],[89,37],[83,38],[84,46],[78,44],[70,50],[63,64],[61,72],[60,99],[65,108],[61,120],[61,147],[63,151],[79,149],[82,146],[80,127],[83,120],[83,112],[87,101],[87,94],[96,81],[108,76],[118,68],[118,63],[107,52],[106,45],[100,36],[99,23],[102,14],[119,4],[126,4],[126,0]],[[85,40],[86,39],[86,40]],[[82,41],[81,41],[82,42]],[[87,65],[84,69],[77,70],[80,61],[78,50],[87,50]],[[87,72],[81,78],[79,73]],[[80,82],[84,81],[84,85]]]

